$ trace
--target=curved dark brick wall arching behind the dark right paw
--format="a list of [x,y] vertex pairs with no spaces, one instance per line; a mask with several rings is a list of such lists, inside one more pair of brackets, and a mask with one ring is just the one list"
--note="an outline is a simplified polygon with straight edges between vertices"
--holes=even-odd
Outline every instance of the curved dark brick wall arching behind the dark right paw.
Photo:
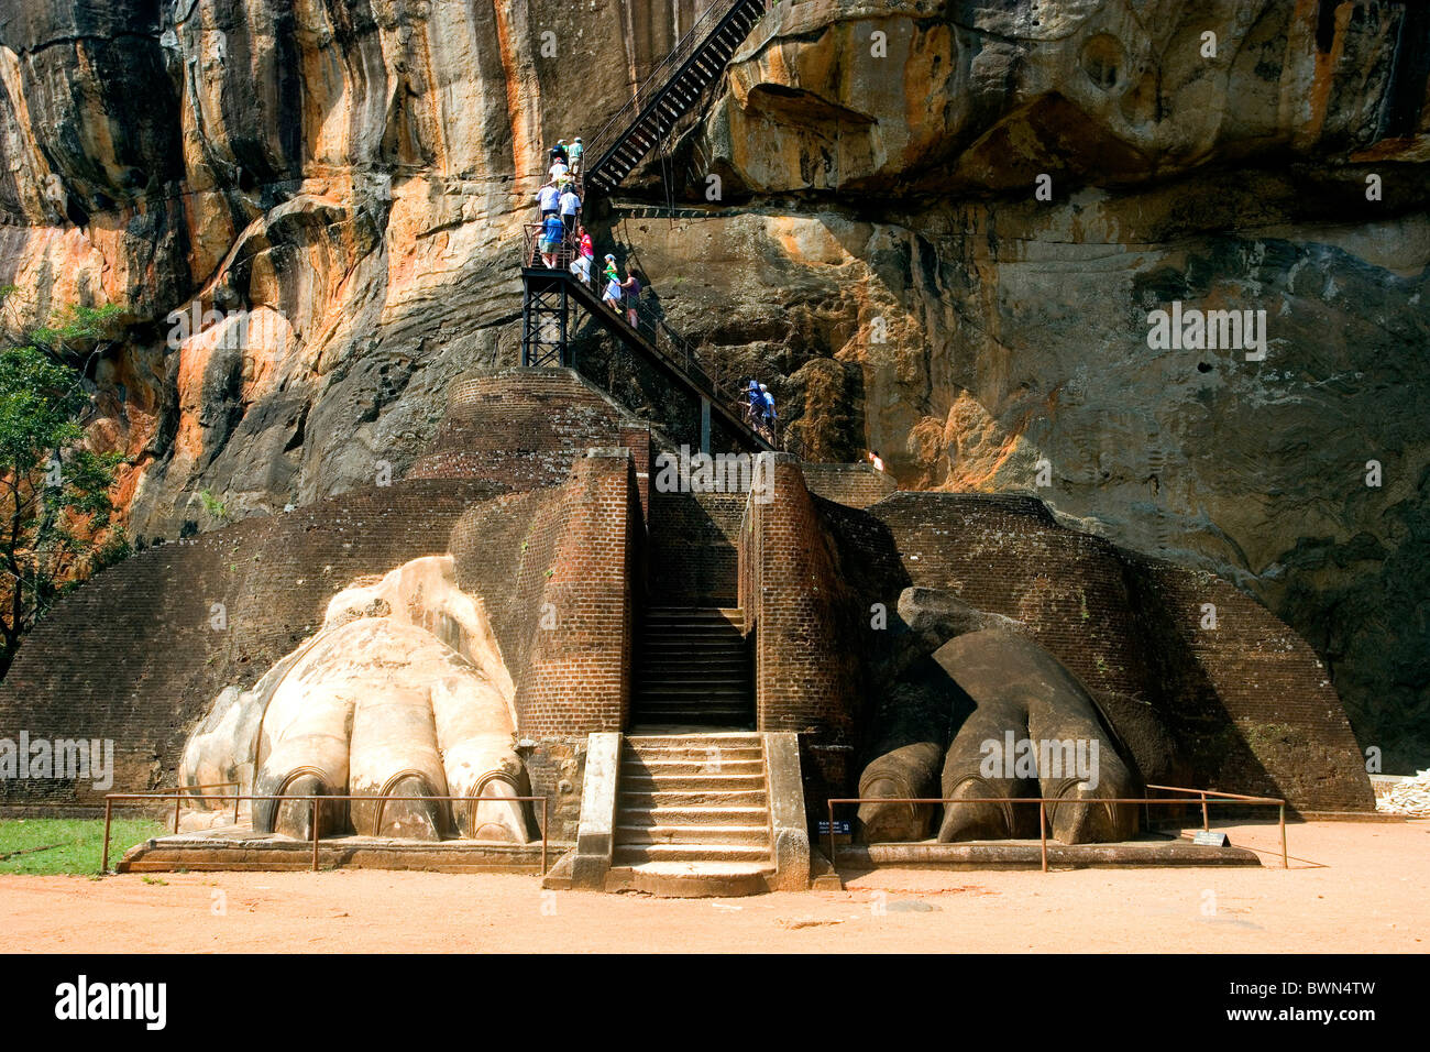
[[[1195,784],[1286,796],[1307,810],[1371,806],[1358,747],[1324,668],[1254,600],[1210,575],[1060,527],[1034,498],[899,492],[868,511],[821,505],[859,635],[909,584],[1018,618],[1098,696],[1155,707]],[[1201,604],[1220,627],[1198,628]],[[1230,620],[1228,620],[1230,618]]]

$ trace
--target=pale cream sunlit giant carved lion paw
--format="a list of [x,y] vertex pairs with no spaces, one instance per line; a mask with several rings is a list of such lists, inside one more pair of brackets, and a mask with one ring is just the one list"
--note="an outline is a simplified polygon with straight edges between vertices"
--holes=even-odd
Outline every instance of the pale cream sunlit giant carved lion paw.
[[[329,604],[323,628],[252,690],[227,688],[190,737],[180,784],[237,781],[279,797],[255,832],[526,843],[526,776],[513,750],[512,681],[450,557],[415,560]],[[252,787],[252,789],[249,789]],[[462,797],[398,800],[392,797]],[[202,797],[222,809],[222,793]]]

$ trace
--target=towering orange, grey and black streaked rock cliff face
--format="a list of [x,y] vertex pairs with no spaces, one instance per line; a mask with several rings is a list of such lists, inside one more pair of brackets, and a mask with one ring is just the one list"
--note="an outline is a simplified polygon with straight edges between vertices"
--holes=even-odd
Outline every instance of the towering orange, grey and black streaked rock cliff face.
[[[129,308],[93,435],[132,532],[400,474],[448,381],[515,355],[545,146],[708,6],[0,0],[0,283],[17,321]],[[1391,0],[785,0],[598,235],[807,455],[1028,490],[1237,581],[1409,767],[1427,72]],[[1174,302],[1264,311],[1264,359],[1150,345]]]

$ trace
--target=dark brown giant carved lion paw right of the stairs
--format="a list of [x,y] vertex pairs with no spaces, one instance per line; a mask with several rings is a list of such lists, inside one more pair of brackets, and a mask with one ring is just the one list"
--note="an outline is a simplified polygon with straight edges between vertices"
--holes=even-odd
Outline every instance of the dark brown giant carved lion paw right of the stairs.
[[[1125,840],[1137,829],[1137,780],[1088,691],[1055,657],[1004,628],[971,631],[915,663],[885,698],[894,724],[864,769],[861,797],[944,797],[931,804],[865,803],[868,842],[1037,837],[1045,797],[1054,839]],[[938,789],[940,792],[932,792]],[[998,797],[1001,803],[980,803]]]

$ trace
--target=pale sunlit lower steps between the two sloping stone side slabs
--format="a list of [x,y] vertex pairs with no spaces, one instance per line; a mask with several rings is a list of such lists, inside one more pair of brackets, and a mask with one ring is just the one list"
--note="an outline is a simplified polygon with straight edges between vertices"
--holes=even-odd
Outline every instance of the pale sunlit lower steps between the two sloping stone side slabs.
[[775,856],[759,734],[628,736],[618,784],[606,890],[768,890]]

